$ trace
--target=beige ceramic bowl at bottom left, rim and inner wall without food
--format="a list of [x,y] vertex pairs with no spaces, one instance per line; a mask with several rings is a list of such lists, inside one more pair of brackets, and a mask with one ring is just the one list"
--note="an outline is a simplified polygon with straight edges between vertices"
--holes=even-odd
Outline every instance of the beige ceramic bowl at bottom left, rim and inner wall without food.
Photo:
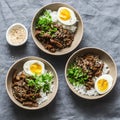
[[[29,60],[39,60],[41,62],[43,62],[45,64],[45,68],[47,71],[49,72],[52,72],[53,73],[53,92],[49,93],[48,94],[48,99],[46,101],[44,101],[43,103],[39,104],[38,107],[28,107],[28,106],[23,106],[18,100],[16,100],[13,96],[13,93],[12,93],[12,78],[13,78],[13,74],[14,72],[17,70],[18,72],[22,71],[23,70],[23,64],[26,62],[26,61],[29,61]],[[25,58],[22,58],[18,61],[16,61],[8,70],[8,73],[6,75],[6,81],[5,81],[5,84],[6,84],[6,90],[7,90],[7,93],[8,93],[8,96],[10,97],[10,99],[19,107],[23,108],[23,109],[27,109],[27,110],[37,110],[37,109],[41,109],[45,106],[47,106],[49,103],[52,102],[52,100],[55,98],[56,94],[57,94],[57,90],[58,90],[58,75],[57,75],[57,72],[56,70],[54,69],[54,67],[48,62],[46,61],[45,59],[42,59],[42,58],[39,58],[39,57],[35,57],[35,56],[28,56],[28,57],[25,57]]]

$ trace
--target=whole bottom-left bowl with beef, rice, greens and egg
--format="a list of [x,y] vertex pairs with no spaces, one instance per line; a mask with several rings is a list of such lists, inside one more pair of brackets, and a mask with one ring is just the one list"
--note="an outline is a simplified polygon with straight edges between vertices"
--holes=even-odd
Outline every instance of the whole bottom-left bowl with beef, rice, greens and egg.
[[9,97],[25,109],[39,109],[49,104],[58,89],[55,69],[42,58],[26,57],[11,66],[6,78]]

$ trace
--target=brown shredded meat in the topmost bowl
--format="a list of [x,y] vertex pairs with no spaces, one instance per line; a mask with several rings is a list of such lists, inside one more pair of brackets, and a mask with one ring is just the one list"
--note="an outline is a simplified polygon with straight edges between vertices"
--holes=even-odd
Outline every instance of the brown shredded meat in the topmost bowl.
[[54,24],[57,31],[50,35],[49,33],[41,33],[40,29],[36,29],[35,37],[43,44],[45,49],[50,52],[56,52],[58,50],[70,47],[74,40],[75,33],[70,30],[64,29],[62,25]]

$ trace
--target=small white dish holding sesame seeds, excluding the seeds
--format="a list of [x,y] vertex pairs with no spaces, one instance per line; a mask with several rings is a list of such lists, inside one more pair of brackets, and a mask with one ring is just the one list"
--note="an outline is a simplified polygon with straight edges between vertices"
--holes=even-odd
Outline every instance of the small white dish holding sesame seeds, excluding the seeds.
[[[10,31],[13,30],[13,29],[15,29],[16,27],[22,27],[23,30],[25,30],[25,38],[24,38],[24,39],[22,40],[22,42],[20,42],[20,43],[13,43],[13,42],[10,40],[10,38],[9,38]],[[12,25],[7,29],[7,32],[6,32],[6,40],[7,40],[7,42],[8,42],[9,45],[11,45],[11,46],[21,46],[21,45],[23,45],[24,43],[26,43],[27,39],[28,39],[28,30],[27,30],[27,28],[26,28],[23,24],[21,24],[21,23],[14,23],[14,24],[12,24]]]

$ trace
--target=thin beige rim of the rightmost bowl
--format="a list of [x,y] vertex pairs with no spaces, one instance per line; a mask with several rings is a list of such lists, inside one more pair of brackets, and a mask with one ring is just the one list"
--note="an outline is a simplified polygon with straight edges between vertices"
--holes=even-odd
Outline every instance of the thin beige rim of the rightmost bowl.
[[[116,74],[115,74],[116,78],[114,79],[115,82],[113,82],[111,89],[110,89],[108,92],[106,92],[105,94],[102,94],[102,95],[99,95],[99,96],[92,96],[92,97],[91,97],[91,96],[87,96],[87,95],[81,95],[80,93],[78,93],[77,91],[75,91],[73,88],[71,88],[71,84],[70,84],[69,81],[68,81],[68,78],[67,78],[67,67],[68,67],[69,61],[72,59],[72,57],[73,57],[75,54],[79,53],[80,51],[84,51],[84,50],[86,50],[86,49],[95,49],[95,50],[99,50],[99,51],[105,53],[105,54],[111,59],[111,61],[112,61],[113,64],[114,64],[115,73],[116,73]],[[64,71],[64,73],[65,73],[65,81],[66,81],[69,89],[70,89],[75,95],[77,95],[78,97],[81,97],[81,98],[86,99],[86,100],[95,100],[95,99],[103,98],[104,96],[108,95],[108,94],[112,91],[112,89],[114,88],[114,86],[115,86],[115,84],[116,84],[116,82],[117,82],[117,66],[116,66],[115,61],[113,60],[113,58],[112,58],[112,56],[111,56],[110,54],[108,54],[105,50],[103,50],[103,49],[101,49],[101,48],[98,48],[98,47],[84,47],[84,48],[81,48],[81,49],[78,49],[77,51],[75,51],[75,52],[68,58],[68,60],[67,60],[67,62],[66,62],[66,65],[65,65],[65,71]]]

